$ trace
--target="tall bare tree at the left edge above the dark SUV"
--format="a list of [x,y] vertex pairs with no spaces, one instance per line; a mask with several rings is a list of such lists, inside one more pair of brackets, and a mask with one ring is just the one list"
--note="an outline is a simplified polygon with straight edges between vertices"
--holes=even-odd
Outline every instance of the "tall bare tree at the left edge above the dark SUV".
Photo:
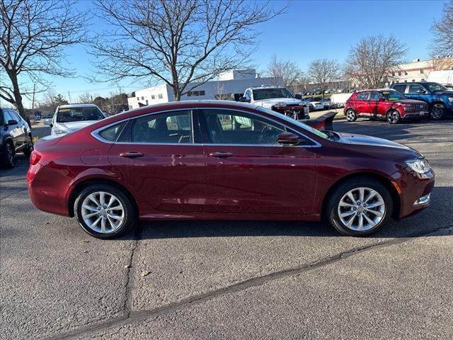
[[[71,9],[74,1],[0,0],[0,98],[16,106],[23,118],[24,79],[47,85],[42,74],[69,76],[62,67],[63,48],[84,40],[86,14]],[[22,83],[21,80],[22,79]]]

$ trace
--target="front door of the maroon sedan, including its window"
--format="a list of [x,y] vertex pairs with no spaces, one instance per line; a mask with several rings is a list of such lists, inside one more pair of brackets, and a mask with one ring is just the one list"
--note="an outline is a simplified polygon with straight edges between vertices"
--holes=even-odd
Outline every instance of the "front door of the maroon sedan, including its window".
[[206,157],[205,211],[309,214],[316,191],[313,142],[285,147],[285,126],[236,110],[200,109]]

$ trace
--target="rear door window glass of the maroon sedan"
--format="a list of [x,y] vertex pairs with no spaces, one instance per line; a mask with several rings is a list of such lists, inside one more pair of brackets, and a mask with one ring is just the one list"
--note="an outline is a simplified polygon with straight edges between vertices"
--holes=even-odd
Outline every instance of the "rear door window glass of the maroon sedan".
[[190,111],[159,113],[137,118],[132,123],[131,141],[138,143],[192,143]]

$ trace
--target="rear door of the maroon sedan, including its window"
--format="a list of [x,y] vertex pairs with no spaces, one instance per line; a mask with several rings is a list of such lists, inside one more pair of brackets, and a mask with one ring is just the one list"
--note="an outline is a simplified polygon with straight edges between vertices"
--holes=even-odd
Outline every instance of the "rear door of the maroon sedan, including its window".
[[192,117],[182,110],[131,119],[110,148],[110,163],[134,191],[142,215],[199,210],[205,157],[194,143]]

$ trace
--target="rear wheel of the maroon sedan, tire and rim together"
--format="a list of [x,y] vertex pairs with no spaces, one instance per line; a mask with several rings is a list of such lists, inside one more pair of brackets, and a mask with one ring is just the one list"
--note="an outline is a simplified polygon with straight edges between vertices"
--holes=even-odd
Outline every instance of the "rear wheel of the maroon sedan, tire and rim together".
[[81,191],[74,211],[82,229],[99,239],[125,234],[137,222],[137,212],[130,198],[120,189],[104,184]]

